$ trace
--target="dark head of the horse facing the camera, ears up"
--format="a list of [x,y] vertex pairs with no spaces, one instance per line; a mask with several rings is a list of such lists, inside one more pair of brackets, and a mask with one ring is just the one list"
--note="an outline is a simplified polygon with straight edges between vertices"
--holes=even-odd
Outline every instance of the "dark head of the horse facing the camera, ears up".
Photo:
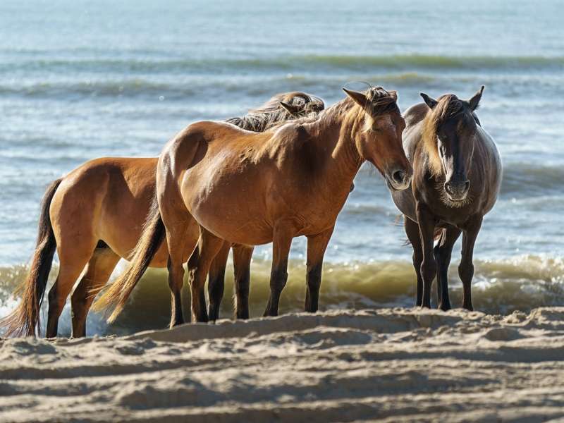
[[432,99],[421,93],[429,112],[424,123],[424,145],[429,154],[429,169],[444,177],[444,191],[450,202],[464,203],[470,190],[467,172],[470,169],[477,122],[477,109],[484,85],[470,100],[460,100],[454,94]]

